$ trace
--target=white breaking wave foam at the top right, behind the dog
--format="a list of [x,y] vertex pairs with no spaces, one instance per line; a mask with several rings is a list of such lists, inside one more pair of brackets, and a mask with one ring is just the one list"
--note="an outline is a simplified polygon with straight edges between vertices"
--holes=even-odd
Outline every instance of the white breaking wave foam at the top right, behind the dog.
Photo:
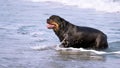
[[32,2],[57,2],[64,5],[90,8],[97,11],[120,12],[119,0],[31,0]]

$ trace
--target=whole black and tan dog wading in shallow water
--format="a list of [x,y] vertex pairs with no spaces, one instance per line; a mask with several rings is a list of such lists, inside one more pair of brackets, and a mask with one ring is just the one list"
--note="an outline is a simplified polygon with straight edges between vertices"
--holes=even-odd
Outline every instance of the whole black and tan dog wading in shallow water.
[[108,48],[107,36],[100,30],[73,25],[57,15],[47,19],[47,27],[54,30],[61,47],[95,50]]

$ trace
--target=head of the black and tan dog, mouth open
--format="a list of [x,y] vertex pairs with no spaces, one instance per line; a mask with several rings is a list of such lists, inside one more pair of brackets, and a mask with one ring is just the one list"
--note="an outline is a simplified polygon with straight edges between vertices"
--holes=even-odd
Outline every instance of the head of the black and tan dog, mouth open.
[[55,31],[63,29],[63,26],[65,26],[66,22],[65,20],[57,15],[50,16],[49,19],[47,19],[47,27],[48,29],[54,29]]

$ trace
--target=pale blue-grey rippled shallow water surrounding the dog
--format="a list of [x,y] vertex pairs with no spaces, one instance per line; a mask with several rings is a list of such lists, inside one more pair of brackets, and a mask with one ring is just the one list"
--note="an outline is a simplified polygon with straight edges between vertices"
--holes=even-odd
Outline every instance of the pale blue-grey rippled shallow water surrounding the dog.
[[[53,14],[100,29],[108,36],[109,49],[56,50],[59,40],[46,28],[46,19]],[[119,68],[119,36],[120,13],[54,2],[0,1],[0,68]]]

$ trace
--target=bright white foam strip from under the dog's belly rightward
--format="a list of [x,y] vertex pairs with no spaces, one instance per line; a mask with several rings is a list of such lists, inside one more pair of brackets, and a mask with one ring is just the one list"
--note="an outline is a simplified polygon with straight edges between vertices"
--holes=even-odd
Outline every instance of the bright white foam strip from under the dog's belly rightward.
[[57,51],[69,52],[69,54],[81,54],[81,53],[90,53],[91,55],[104,55],[104,54],[120,54],[120,51],[115,52],[105,52],[105,51],[96,51],[96,50],[87,50],[83,48],[60,48],[56,47]]

